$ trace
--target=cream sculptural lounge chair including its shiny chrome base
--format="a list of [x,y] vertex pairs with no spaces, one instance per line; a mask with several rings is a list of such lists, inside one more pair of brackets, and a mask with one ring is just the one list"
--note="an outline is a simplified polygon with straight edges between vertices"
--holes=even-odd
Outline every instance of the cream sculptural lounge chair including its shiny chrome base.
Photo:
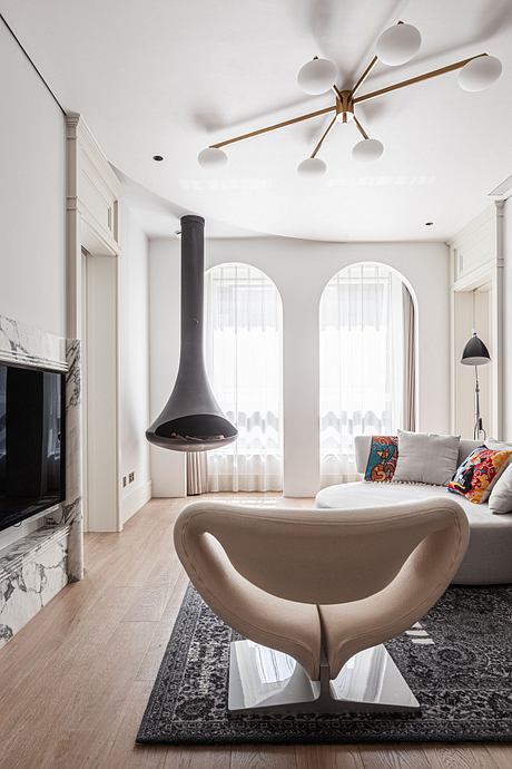
[[175,525],[196,590],[248,639],[230,646],[232,712],[417,710],[383,642],[433,606],[467,543],[445,497],[358,510],[199,502]]

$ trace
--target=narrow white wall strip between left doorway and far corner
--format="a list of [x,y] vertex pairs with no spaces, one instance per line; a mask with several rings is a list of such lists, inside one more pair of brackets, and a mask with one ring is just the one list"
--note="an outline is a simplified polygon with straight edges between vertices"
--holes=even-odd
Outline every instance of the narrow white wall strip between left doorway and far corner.
[[119,257],[119,416],[120,476],[135,473],[121,488],[126,522],[151,496],[149,445],[149,243],[136,215],[125,204],[120,213]]

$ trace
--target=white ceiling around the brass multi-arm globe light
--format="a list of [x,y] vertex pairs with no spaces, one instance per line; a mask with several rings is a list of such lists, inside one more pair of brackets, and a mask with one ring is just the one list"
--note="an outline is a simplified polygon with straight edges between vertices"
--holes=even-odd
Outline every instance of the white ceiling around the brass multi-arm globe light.
[[[174,211],[238,234],[445,240],[512,172],[510,0],[0,0],[0,8],[116,167]],[[501,79],[467,94],[450,74],[361,105],[383,157],[353,162],[356,129],[336,125],[318,182],[295,169],[323,118],[234,145],[221,172],[197,165],[209,144],[327,106],[328,95],[307,97],[296,86],[301,65],[328,57],[338,85],[351,85],[398,19],[417,26],[422,49],[403,67],[378,65],[362,93],[483,51],[501,58]]]

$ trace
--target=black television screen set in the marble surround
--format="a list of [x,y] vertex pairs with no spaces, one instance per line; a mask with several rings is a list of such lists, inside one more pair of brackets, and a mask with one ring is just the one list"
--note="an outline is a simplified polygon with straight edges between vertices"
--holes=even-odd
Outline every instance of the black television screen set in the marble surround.
[[65,374],[0,363],[0,529],[66,497]]

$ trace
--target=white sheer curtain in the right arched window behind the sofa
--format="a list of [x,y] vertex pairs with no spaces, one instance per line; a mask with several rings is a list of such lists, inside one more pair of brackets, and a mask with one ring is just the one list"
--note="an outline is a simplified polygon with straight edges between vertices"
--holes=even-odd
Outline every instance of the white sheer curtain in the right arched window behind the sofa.
[[321,302],[321,481],[356,480],[354,436],[402,425],[402,281],[372,263],[342,270]]

